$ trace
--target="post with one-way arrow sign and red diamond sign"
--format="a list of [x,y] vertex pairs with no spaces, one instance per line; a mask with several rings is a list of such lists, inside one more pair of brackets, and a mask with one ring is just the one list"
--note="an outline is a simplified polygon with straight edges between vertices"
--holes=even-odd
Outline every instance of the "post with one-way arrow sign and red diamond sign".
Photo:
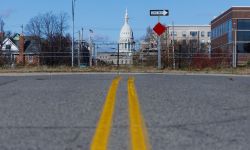
[[158,23],[153,30],[157,36],[157,51],[158,51],[158,69],[161,69],[161,38],[160,36],[166,31],[166,27],[160,23],[160,16],[168,16],[168,10],[150,10],[150,16],[157,16]]

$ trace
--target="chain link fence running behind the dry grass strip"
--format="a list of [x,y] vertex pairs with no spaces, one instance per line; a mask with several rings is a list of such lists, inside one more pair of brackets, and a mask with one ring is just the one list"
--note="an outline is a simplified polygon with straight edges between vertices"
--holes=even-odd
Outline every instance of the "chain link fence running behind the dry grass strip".
[[[96,54],[96,55],[95,55]],[[89,52],[75,52],[73,64],[75,68],[144,68],[157,69],[157,52],[134,52],[130,55],[117,54],[116,52],[96,52],[90,55]],[[238,62],[242,66],[249,67],[248,55],[238,55]],[[244,60],[244,61],[242,61]],[[229,53],[172,53],[162,51],[162,69],[218,69],[231,68],[232,55]],[[0,66],[2,68],[16,68],[23,66],[47,66],[47,67],[71,67],[71,52],[44,52],[37,54],[1,54]],[[238,64],[240,66],[241,64]]]

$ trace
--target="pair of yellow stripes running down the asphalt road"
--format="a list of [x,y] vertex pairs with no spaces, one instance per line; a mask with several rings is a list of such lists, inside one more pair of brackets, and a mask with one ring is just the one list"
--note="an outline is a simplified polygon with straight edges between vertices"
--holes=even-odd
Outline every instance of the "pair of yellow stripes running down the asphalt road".
[[[90,145],[90,150],[107,150],[115,109],[116,91],[121,77],[116,77],[110,86],[103,110]],[[134,78],[128,79],[128,111],[131,150],[150,150],[147,130],[140,110]]]

